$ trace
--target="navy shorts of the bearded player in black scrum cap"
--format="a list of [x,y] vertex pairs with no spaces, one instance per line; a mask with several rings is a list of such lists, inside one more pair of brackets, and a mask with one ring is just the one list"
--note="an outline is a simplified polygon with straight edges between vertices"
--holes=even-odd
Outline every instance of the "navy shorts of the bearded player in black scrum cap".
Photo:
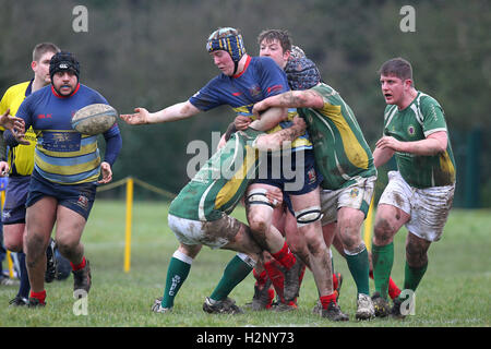
[[29,194],[26,207],[34,205],[45,196],[58,200],[58,205],[76,212],[87,220],[96,196],[96,183],[58,184],[50,182],[36,172],[31,178]]

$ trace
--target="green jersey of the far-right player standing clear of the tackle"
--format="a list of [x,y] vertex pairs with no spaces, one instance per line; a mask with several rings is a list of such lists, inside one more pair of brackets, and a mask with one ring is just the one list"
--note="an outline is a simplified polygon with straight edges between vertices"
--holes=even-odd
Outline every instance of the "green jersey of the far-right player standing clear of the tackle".
[[[424,140],[446,128],[443,108],[431,96],[418,92],[415,100],[403,110],[391,105],[385,108],[384,134],[403,142]],[[451,185],[455,182],[456,167],[448,136],[446,152],[433,156],[395,153],[397,168],[404,180],[415,188]]]

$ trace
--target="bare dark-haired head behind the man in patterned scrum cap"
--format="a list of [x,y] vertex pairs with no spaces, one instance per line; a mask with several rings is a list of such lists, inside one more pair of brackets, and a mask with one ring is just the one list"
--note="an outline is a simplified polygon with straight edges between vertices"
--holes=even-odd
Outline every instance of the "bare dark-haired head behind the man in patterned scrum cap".
[[260,56],[271,57],[279,68],[285,69],[290,58],[291,38],[288,31],[266,29],[258,36]]

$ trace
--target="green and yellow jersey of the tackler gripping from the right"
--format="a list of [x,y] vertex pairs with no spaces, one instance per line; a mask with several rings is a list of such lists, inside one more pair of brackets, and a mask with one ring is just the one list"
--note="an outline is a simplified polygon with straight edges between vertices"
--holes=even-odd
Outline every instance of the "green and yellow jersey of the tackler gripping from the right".
[[314,147],[323,189],[337,190],[358,178],[376,176],[373,155],[351,108],[331,86],[312,87],[324,99],[322,109],[298,108]]

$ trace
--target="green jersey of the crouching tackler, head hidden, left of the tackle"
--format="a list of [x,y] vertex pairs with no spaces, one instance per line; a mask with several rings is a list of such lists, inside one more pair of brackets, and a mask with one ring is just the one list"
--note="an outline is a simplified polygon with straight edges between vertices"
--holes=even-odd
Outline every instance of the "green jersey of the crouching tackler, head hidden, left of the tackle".
[[256,177],[260,161],[252,142],[260,134],[263,132],[251,129],[233,133],[180,191],[170,204],[169,214],[201,221],[230,214]]

